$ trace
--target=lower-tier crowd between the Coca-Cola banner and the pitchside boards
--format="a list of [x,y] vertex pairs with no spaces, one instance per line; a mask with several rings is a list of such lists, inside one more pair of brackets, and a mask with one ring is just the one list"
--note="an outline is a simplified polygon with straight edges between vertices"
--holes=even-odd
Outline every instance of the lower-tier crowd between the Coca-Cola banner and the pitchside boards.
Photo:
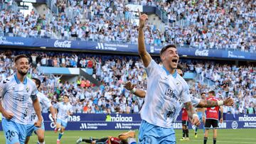
[[[33,63],[28,77],[41,79],[43,83],[40,91],[46,94],[53,104],[61,101],[64,94],[70,96],[70,103],[77,113],[138,113],[143,104],[143,99],[124,89],[124,82],[127,81],[137,84],[138,89],[146,87],[146,72],[139,57],[40,51],[29,53],[8,50],[2,51],[0,55],[0,80],[14,73],[14,57],[21,53],[29,55]],[[62,65],[61,60],[67,60],[70,57],[77,62],[85,60],[85,64],[78,64],[76,67],[93,69],[92,77],[100,81],[100,87],[96,87],[84,77],[79,77],[77,82],[70,83],[61,81],[61,75],[43,74],[37,69],[40,65],[65,66],[65,62]],[[54,59],[59,59],[57,60],[59,63],[49,65],[50,62],[54,63]],[[35,63],[35,60],[38,63]],[[50,62],[44,63],[45,61]],[[156,59],[156,61],[160,60]],[[236,67],[235,65],[190,60],[181,60],[181,64],[183,72],[194,72],[197,75],[196,79],[189,82],[193,96],[200,98],[201,92],[215,90],[216,97],[219,99],[225,99],[228,96],[235,99],[235,106],[225,107],[225,113],[255,113],[256,67]],[[213,84],[206,84],[205,79]],[[43,109],[43,112],[47,111]]]

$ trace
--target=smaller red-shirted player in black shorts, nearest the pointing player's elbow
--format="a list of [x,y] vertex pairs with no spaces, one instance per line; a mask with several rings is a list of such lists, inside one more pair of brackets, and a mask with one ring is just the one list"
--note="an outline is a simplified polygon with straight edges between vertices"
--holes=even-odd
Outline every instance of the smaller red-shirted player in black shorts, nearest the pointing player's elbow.
[[[181,121],[182,121],[182,140],[189,140],[188,138],[188,112],[186,109],[182,108],[182,114],[181,114]],[[186,138],[185,138],[186,135]]]

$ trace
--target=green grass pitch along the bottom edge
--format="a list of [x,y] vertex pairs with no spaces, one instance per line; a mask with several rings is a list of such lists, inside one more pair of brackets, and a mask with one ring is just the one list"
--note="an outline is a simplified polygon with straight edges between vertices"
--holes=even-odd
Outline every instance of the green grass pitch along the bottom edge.
[[[65,131],[63,134],[63,138],[61,139],[61,144],[73,144],[79,137],[83,138],[102,138],[108,135],[116,136],[119,133],[125,131]],[[189,131],[190,140],[189,141],[180,141],[181,138],[181,130],[176,130],[176,141],[177,144],[201,144],[203,143],[203,130],[199,130],[198,138],[194,138],[193,130]],[[138,135],[138,131],[137,131]],[[213,143],[213,132],[210,130],[208,143]],[[53,131],[46,131],[46,144],[56,143],[58,138],[58,133],[54,133]],[[35,144],[37,142],[36,135],[31,137],[30,143]],[[0,131],[0,143],[5,143],[4,132]],[[221,129],[218,130],[218,144],[256,144],[256,129]]]

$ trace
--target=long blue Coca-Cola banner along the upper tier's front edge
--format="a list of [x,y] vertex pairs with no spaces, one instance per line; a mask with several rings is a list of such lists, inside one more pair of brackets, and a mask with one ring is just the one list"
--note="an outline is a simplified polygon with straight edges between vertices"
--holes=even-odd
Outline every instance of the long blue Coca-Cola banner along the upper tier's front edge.
[[[48,38],[20,38],[0,36],[0,45],[15,45],[26,47],[43,47],[43,48],[67,48],[90,51],[115,51],[115,52],[133,52],[138,53],[138,46],[129,43],[97,43],[83,40],[55,40]],[[161,46],[146,45],[148,52],[159,54]],[[178,48],[179,55],[191,57],[220,57],[238,60],[256,60],[256,54],[250,52],[230,51],[230,50],[213,50],[181,47]]]

